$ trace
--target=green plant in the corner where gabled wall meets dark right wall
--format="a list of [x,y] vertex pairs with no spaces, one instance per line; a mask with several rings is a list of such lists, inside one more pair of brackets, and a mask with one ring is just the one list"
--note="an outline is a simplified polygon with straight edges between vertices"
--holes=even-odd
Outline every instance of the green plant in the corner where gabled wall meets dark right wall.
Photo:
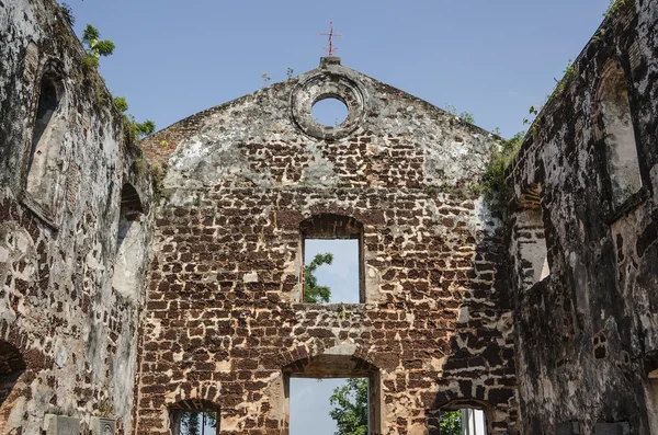
[[504,182],[504,171],[519,152],[523,137],[523,133],[518,133],[502,145],[495,144],[491,147],[491,157],[483,174],[483,193],[485,201],[494,210],[500,211],[507,202],[509,195]]

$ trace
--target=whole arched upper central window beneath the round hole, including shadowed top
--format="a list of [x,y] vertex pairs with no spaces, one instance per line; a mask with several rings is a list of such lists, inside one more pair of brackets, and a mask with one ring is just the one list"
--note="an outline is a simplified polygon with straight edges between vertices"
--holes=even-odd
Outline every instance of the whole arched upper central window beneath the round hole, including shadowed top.
[[300,225],[303,297],[309,304],[364,304],[363,226],[339,215]]

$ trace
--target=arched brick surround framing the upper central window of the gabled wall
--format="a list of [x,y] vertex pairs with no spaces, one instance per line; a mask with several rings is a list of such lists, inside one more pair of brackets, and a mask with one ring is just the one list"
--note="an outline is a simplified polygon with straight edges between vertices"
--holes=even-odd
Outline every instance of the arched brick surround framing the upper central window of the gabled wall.
[[[365,263],[364,263],[364,247],[363,247],[363,224],[351,216],[338,215],[333,213],[320,213],[310,216],[299,224],[300,233],[300,252],[299,256],[305,259],[305,245],[308,239],[322,240],[356,240],[359,250],[359,302],[366,301],[365,286]],[[302,301],[305,300],[304,295],[304,267],[300,271],[302,285]]]

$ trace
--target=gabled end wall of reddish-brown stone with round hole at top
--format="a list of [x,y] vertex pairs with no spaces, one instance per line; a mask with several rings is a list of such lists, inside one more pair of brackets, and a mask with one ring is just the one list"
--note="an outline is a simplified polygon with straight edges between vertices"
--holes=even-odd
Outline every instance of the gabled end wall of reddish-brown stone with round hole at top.
[[[310,117],[322,96],[343,124]],[[473,193],[495,140],[334,58],[149,138],[168,198],[136,433],[196,409],[219,410],[223,434],[285,434],[287,377],[339,375],[374,382],[373,433],[436,434],[451,407],[517,433],[504,249]],[[314,218],[362,226],[364,304],[302,302]]]

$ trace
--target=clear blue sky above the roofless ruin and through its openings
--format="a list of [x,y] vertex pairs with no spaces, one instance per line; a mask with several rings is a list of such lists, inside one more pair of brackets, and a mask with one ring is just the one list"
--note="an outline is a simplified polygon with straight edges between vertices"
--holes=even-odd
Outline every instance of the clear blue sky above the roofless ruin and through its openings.
[[[342,64],[428,102],[474,115],[506,137],[524,129],[602,21],[609,0],[67,0],[116,44],[101,59],[107,88],[158,129],[314,69],[333,21]],[[329,119],[333,119],[329,115]],[[329,121],[330,124],[330,121]],[[316,249],[318,252],[329,247]],[[352,271],[352,272],[350,272]],[[320,284],[347,288],[355,265],[337,253]],[[293,435],[329,435],[332,381],[294,388]],[[317,399],[316,402],[310,399]],[[295,423],[298,422],[298,423]]]

